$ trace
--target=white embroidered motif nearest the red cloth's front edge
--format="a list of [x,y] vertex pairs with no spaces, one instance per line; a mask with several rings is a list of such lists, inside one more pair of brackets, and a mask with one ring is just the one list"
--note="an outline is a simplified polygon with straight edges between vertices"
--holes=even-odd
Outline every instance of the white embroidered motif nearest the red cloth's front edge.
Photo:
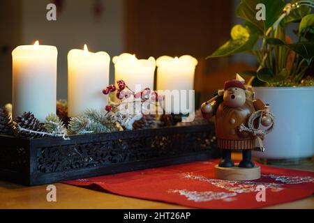
[[185,196],[188,201],[206,202],[212,200],[234,201],[237,193],[227,192],[212,192],[212,191],[188,191],[188,190],[170,190],[169,193],[179,193],[181,196]]

